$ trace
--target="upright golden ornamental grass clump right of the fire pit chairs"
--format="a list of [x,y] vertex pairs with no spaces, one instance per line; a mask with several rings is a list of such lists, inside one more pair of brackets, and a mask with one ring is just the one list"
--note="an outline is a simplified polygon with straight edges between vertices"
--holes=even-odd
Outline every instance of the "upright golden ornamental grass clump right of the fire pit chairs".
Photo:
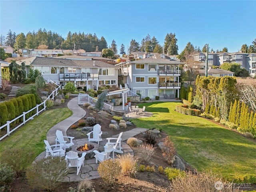
[[133,158],[130,154],[118,155],[118,160],[121,165],[121,174],[124,176],[135,176],[137,160]]

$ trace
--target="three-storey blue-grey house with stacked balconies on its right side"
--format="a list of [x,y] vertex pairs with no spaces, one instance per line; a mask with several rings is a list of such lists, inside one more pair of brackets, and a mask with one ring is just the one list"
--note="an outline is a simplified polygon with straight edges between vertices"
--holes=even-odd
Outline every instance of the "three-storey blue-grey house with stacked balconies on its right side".
[[164,98],[165,94],[171,98],[176,93],[179,96],[180,64],[175,60],[145,58],[116,66],[120,67],[119,75],[132,92],[141,94],[141,98],[155,99],[155,96]]

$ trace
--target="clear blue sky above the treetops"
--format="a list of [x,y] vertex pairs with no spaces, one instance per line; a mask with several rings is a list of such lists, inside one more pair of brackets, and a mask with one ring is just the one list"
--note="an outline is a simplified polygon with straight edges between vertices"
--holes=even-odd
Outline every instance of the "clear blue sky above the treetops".
[[178,52],[191,42],[201,49],[237,52],[256,38],[256,0],[0,0],[0,34],[25,35],[39,28],[66,38],[68,32],[102,36],[108,45],[141,40],[148,34],[161,45],[175,33]]

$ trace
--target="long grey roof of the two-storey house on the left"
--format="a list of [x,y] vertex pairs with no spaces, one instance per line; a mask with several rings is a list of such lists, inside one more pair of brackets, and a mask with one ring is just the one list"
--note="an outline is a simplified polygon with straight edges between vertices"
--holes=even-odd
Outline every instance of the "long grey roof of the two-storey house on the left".
[[[95,63],[95,65],[94,65]],[[118,68],[112,64],[101,61],[92,60],[71,60],[71,59],[56,59],[48,57],[36,57],[32,66],[60,66],[60,67],[88,67],[88,68]]]

